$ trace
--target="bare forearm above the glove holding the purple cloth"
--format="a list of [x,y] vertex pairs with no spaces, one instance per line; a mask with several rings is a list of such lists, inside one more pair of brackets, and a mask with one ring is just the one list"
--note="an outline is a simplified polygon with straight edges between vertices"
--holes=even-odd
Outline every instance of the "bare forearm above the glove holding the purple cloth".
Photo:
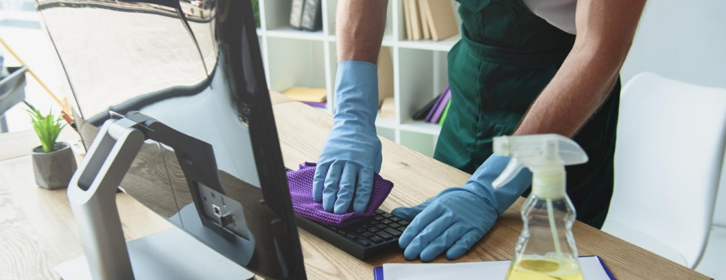
[[378,62],[380,42],[386,29],[388,0],[342,0],[338,2],[338,61]]

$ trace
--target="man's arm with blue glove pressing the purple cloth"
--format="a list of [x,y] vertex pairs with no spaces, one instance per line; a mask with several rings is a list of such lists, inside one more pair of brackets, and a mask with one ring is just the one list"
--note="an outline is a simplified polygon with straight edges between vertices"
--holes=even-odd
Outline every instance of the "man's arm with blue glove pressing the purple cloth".
[[378,51],[388,0],[338,2],[338,72],[333,127],[318,156],[313,199],[325,211],[364,212],[383,156],[375,133]]

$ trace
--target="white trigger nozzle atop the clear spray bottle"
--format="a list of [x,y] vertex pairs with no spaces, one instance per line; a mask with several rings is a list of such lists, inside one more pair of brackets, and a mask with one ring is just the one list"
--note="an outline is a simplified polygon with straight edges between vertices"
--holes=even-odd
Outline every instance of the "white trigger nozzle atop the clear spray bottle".
[[510,182],[525,167],[534,174],[535,183],[564,187],[564,166],[587,162],[587,153],[575,141],[556,134],[494,137],[494,154],[512,158],[492,182],[495,188]]

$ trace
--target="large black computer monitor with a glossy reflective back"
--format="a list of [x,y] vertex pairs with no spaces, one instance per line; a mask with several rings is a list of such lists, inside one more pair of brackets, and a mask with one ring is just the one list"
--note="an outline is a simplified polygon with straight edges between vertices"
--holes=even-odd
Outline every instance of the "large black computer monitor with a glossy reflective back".
[[[38,0],[38,10],[86,148],[118,116],[150,117],[168,140],[142,145],[121,189],[260,276],[304,279],[250,1]],[[206,159],[180,156],[189,150]],[[194,164],[203,171],[185,173]]]

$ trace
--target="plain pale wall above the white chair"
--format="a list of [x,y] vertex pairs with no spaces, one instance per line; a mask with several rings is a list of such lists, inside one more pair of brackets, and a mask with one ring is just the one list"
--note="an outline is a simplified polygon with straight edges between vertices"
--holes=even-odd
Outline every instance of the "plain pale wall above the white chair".
[[726,1],[650,0],[621,71],[726,88]]

